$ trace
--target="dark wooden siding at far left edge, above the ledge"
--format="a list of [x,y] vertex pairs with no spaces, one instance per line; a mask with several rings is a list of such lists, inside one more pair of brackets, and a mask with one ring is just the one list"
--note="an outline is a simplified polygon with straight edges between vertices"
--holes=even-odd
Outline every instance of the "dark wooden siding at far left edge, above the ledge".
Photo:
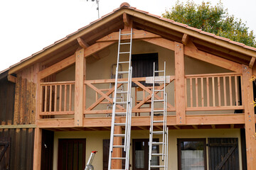
[[11,125],[14,123],[14,94],[15,84],[4,77],[0,80],[0,123]]

